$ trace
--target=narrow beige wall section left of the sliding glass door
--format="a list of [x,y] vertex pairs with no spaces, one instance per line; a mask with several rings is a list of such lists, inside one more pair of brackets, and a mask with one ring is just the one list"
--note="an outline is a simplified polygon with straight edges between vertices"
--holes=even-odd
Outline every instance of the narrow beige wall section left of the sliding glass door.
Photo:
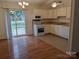
[[0,8],[0,39],[6,39],[6,27],[3,8]]

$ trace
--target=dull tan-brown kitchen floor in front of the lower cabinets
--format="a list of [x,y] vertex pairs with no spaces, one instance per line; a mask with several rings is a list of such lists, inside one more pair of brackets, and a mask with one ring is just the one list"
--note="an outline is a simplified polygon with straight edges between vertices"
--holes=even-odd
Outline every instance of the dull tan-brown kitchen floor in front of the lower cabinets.
[[63,52],[67,52],[68,50],[68,39],[53,34],[46,34],[43,36],[39,36],[38,38],[60,49]]

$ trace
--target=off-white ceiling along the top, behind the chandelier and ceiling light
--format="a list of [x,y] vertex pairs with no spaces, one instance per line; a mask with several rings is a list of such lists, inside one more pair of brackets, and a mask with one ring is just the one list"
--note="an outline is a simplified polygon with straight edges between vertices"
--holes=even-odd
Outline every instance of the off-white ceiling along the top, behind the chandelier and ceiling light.
[[[18,2],[20,0],[0,0],[3,2]],[[30,4],[40,4],[40,5],[50,5],[53,1],[62,1],[64,5],[70,5],[71,0],[23,0],[29,2]]]

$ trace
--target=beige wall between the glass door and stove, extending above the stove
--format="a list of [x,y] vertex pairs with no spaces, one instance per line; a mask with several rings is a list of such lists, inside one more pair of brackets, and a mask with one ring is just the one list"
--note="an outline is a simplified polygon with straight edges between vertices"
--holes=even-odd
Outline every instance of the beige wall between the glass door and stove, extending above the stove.
[[27,35],[32,35],[32,20],[36,15],[42,16],[42,18],[47,18],[49,16],[49,10],[29,8],[25,10],[26,14],[26,32]]

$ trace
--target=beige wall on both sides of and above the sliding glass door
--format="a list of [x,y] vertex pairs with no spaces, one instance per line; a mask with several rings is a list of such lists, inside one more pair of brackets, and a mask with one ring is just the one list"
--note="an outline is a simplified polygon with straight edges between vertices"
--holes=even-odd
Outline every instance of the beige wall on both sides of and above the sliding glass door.
[[[0,39],[4,39],[6,38],[6,25],[5,25],[5,14],[4,14],[4,10],[5,9],[21,9],[21,7],[17,4],[17,3],[11,3],[11,2],[5,2],[5,3],[1,3],[1,7],[0,8]],[[25,16],[26,16],[26,32],[27,35],[32,35],[32,20],[34,18],[35,15],[40,15],[43,18],[47,18],[49,16],[49,9],[43,9],[43,8],[39,8],[38,6],[29,6],[26,9],[24,9],[25,11]]]

